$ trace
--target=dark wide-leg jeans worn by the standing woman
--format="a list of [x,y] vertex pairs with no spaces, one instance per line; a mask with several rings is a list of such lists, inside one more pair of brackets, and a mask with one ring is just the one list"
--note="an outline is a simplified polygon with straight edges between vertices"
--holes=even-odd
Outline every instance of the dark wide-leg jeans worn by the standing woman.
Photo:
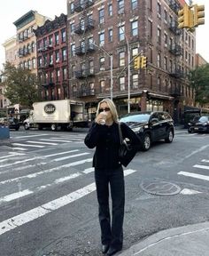
[[[123,244],[123,219],[125,186],[122,167],[113,170],[95,170],[98,217],[102,244],[121,249]],[[109,208],[109,184],[112,197],[112,225]]]

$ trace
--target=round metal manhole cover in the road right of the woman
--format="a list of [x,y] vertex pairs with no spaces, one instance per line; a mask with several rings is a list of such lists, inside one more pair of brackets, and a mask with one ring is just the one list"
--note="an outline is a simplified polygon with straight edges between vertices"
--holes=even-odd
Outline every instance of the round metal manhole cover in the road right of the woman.
[[159,196],[172,196],[181,191],[181,188],[174,183],[162,180],[143,180],[140,187],[149,194]]

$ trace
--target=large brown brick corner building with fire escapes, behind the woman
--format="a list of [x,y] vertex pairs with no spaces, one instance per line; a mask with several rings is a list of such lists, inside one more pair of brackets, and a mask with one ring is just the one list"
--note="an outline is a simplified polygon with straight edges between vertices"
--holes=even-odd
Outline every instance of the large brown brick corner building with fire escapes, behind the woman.
[[[113,80],[120,115],[128,112],[129,94],[131,111],[166,110],[180,122],[183,106],[194,104],[186,76],[195,68],[195,33],[177,28],[182,4],[67,1],[70,96],[86,102],[89,116],[111,96]],[[133,68],[137,54],[148,57],[146,69]]]

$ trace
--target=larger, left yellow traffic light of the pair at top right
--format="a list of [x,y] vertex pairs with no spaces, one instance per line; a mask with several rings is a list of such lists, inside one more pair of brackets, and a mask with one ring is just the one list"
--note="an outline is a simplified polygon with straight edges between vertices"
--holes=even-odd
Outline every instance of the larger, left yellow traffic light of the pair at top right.
[[193,27],[193,12],[187,4],[178,12],[178,28],[192,28]]

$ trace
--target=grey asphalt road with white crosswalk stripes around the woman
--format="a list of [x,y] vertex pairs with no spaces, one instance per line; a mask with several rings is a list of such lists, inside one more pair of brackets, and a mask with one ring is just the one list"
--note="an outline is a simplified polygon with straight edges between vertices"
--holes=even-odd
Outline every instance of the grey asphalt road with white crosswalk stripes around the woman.
[[[0,255],[98,256],[100,231],[85,132],[11,132],[0,148]],[[125,168],[124,249],[209,220],[209,134],[177,131]]]

